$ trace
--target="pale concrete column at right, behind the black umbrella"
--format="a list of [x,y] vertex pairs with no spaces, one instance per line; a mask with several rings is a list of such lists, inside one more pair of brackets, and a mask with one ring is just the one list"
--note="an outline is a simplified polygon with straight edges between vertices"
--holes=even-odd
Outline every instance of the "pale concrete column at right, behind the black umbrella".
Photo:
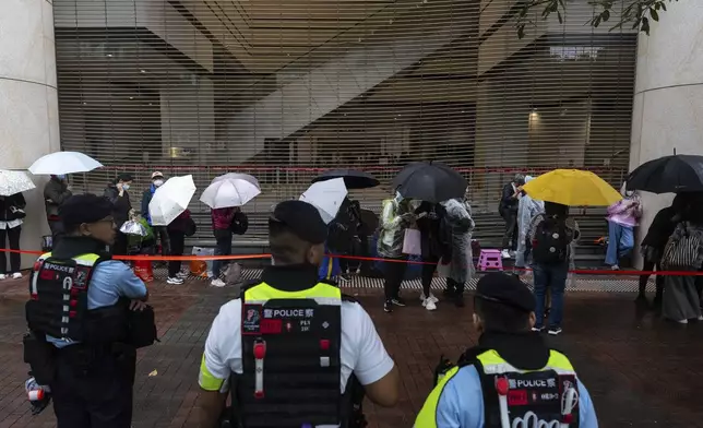
[[[630,168],[670,155],[703,154],[703,2],[667,3],[650,36],[640,35]],[[643,194],[638,241],[672,194]]]

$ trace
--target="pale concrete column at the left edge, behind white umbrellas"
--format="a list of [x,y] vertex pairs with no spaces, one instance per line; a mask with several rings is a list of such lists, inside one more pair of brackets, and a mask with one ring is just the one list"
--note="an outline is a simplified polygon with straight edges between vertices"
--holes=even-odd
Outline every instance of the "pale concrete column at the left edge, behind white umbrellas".
[[[56,88],[53,11],[50,0],[0,1],[0,168],[26,169],[60,150]],[[22,249],[40,249],[48,234],[43,189],[47,177],[33,177],[37,188],[24,194],[27,218]],[[23,258],[28,268],[36,258]]]

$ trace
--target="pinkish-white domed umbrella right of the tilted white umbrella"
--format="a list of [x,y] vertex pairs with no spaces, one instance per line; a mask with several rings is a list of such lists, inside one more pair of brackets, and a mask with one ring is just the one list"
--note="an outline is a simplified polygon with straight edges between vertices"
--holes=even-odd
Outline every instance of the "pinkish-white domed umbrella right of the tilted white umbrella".
[[[229,176],[229,174],[225,176]],[[201,202],[211,209],[242,206],[261,193],[259,181],[251,176],[246,174],[240,174],[240,177],[225,176],[214,179],[212,185],[207,186],[207,189],[200,197]]]

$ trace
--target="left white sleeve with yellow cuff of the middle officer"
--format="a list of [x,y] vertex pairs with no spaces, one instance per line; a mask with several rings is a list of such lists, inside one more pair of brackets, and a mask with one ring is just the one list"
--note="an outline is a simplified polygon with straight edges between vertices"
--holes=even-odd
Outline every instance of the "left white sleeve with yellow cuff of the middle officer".
[[199,384],[205,391],[225,391],[229,374],[241,373],[241,300],[231,300],[219,309],[205,341]]

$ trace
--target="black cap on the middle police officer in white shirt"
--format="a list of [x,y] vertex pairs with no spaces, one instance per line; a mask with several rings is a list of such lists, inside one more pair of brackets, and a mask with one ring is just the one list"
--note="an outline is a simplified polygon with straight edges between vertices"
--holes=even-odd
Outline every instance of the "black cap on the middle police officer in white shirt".
[[308,202],[295,200],[281,202],[269,219],[269,228],[271,229],[272,224],[276,223],[284,225],[306,242],[324,243],[327,239],[327,225],[318,209]]

